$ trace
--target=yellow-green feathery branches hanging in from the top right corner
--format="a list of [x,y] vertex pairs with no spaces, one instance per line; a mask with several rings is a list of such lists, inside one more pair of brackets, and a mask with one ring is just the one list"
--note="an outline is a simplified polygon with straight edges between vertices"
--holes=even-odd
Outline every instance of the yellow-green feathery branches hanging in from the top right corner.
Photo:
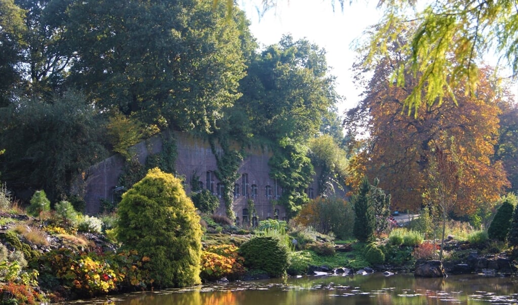
[[[392,71],[397,85],[407,87],[406,75],[416,76],[415,86],[402,102],[415,112],[421,107],[456,103],[454,88],[476,96],[484,76],[478,65],[484,54],[495,51],[500,60],[518,73],[516,27],[518,16],[513,1],[433,1],[416,10],[417,1],[381,1],[384,16],[371,36],[369,60],[390,53],[397,33],[415,23],[409,39],[401,45],[409,65]],[[422,96],[422,92],[426,92]],[[447,99],[445,99],[447,98]]]

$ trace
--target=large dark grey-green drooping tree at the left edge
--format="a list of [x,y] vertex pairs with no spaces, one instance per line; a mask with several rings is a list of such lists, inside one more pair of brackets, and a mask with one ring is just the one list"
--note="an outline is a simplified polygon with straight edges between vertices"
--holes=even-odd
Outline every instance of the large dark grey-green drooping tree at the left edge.
[[[1,164],[10,185],[44,189],[51,201],[70,195],[85,170],[106,156],[103,117],[78,92],[20,98],[0,108]],[[30,162],[28,162],[30,160]]]

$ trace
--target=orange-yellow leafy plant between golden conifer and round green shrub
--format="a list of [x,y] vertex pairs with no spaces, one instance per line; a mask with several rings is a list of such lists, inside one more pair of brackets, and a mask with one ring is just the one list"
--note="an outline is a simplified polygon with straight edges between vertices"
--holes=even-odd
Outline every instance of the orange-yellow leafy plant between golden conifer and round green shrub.
[[237,253],[235,245],[209,246],[202,253],[203,280],[214,281],[223,277],[237,280],[244,274],[243,258]]

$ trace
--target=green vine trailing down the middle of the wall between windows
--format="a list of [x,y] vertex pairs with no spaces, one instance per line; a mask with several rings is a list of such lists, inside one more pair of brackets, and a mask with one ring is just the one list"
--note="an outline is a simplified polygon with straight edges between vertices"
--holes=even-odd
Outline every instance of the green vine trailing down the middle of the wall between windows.
[[228,144],[226,137],[218,138],[222,153],[220,154],[215,146],[214,137],[209,138],[210,148],[212,154],[216,159],[218,170],[214,171],[215,176],[223,184],[223,192],[221,197],[226,207],[226,215],[228,218],[235,219],[234,211],[232,210],[232,203],[234,202],[234,183],[239,178],[237,170],[244,159],[244,150],[233,150]]

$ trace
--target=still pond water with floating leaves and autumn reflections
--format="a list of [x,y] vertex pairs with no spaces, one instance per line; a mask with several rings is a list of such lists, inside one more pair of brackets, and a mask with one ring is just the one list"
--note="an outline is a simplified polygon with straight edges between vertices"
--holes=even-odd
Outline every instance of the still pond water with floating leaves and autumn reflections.
[[207,284],[108,296],[81,304],[117,305],[330,305],[330,304],[518,304],[518,278],[477,274],[446,279],[413,274],[303,276],[285,280]]

